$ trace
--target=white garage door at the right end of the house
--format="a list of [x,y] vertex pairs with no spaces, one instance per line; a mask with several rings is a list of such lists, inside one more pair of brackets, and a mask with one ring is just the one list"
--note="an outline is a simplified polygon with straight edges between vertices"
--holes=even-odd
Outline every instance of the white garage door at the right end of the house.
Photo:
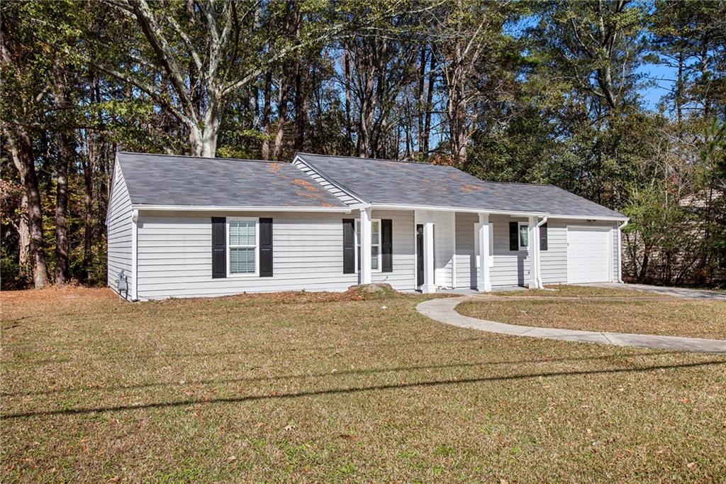
[[567,227],[567,282],[608,282],[611,270],[610,227]]

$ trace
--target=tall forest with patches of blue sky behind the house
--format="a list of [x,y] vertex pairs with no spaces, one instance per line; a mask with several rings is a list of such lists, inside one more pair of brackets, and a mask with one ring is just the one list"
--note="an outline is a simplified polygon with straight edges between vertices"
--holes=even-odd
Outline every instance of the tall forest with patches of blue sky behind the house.
[[628,281],[726,281],[725,1],[0,9],[3,289],[105,283],[117,150],[307,151],[552,183],[631,217]]

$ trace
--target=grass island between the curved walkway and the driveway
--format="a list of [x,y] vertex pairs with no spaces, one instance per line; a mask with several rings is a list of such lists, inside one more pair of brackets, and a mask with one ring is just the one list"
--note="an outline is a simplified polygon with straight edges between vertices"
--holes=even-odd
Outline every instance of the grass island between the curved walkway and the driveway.
[[[557,292],[513,293],[528,297],[526,299],[512,297],[465,302],[457,306],[457,311],[474,318],[522,326],[726,339],[726,302],[723,301],[653,298],[657,294],[627,289],[560,288]],[[598,294],[597,291],[601,292]],[[626,294],[618,295],[613,291]],[[544,296],[549,298],[544,299]],[[590,299],[558,299],[560,296]],[[611,299],[613,297],[618,299]]]

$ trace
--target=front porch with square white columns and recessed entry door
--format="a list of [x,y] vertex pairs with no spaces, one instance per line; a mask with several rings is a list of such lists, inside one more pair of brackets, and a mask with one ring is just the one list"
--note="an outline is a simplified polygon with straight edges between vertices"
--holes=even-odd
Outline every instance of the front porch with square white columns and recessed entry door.
[[[360,283],[403,278],[410,281],[408,287],[424,293],[543,287],[539,241],[540,228],[547,222],[544,214],[392,208],[359,209],[356,265]],[[392,254],[380,247],[380,220],[388,217],[393,221]],[[486,254],[484,264],[480,254]],[[560,256],[566,254],[560,252]],[[393,257],[390,275],[377,270],[383,257]]]

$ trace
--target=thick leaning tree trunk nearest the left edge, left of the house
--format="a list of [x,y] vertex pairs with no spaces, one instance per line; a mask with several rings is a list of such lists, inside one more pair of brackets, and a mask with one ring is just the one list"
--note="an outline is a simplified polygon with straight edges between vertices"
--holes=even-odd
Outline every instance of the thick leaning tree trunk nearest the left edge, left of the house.
[[33,284],[36,289],[42,289],[48,283],[48,269],[43,252],[43,211],[36,166],[33,163],[33,142],[28,132],[18,124],[13,125],[12,134],[7,132],[7,138],[13,158],[17,159],[23,168],[25,195],[28,198],[28,234],[30,254],[33,257]]

